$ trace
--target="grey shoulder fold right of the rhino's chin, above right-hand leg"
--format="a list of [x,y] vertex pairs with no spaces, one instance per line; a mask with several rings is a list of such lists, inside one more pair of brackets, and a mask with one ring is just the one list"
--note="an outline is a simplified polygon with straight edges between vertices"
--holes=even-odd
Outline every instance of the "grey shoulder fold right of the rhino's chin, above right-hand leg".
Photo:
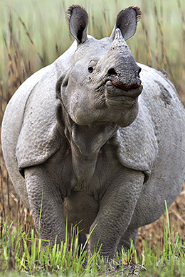
[[139,98],[137,118],[131,125],[119,128],[115,139],[120,163],[127,168],[143,171],[147,181],[157,158],[159,146],[154,123],[142,97]]

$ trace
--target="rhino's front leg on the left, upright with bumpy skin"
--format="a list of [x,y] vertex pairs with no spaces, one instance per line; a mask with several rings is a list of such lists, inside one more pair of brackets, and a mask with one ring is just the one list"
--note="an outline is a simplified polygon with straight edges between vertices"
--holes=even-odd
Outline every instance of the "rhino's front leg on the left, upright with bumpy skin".
[[[57,174],[56,174],[57,176]],[[41,239],[49,240],[51,246],[65,241],[65,222],[63,217],[63,197],[61,196],[58,180],[50,170],[43,165],[25,170],[28,200]],[[48,242],[42,241],[42,246]]]

